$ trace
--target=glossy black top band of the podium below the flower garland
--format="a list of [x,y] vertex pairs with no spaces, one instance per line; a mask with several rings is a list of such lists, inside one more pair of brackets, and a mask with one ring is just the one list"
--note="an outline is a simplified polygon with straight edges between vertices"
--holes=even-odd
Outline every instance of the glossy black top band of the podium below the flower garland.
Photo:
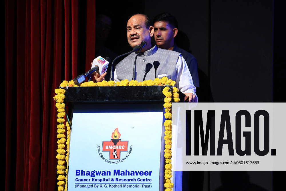
[[[68,87],[65,103],[164,103],[164,87],[166,86]],[[172,86],[168,87],[172,89]]]

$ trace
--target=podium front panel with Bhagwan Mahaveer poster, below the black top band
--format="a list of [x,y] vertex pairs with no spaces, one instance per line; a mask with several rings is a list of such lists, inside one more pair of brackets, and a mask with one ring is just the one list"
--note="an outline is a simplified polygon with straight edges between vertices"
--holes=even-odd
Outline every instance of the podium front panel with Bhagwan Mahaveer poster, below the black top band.
[[74,105],[68,190],[161,190],[162,120],[162,104]]

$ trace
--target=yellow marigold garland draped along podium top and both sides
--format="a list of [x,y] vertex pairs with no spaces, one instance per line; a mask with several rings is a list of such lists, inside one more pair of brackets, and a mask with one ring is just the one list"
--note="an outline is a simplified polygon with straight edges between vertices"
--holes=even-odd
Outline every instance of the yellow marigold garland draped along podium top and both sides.
[[[163,89],[163,94],[166,96],[164,98],[164,108],[165,108],[165,113],[164,116],[166,118],[166,121],[164,122],[164,127],[165,127],[165,180],[164,180],[164,187],[166,188],[166,191],[171,191],[172,188],[174,187],[174,183],[171,182],[172,178],[172,171],[171,171],[171,158],[172,158],[172,112],[171,112],[171,107],[172,107],[172,98],[174,102],[179,102],[179,94],[178,94],[178,88],[174,87],[176,84],[175,81],[168,79],[167,77],[163,77],[161,79],[155,78],[154,80],[145,80],[143,82],[138,82],[137,80],[131,80],[128,81],[127,79],[121,80],[120,82],[114,82],[114,81],[105,81],[103,80],[102,82],[84,82],[80,84],[81,87],[84,86],[166,86],[166,85],[171,85],[173,86],[172,92],[170,92],[169,87],[165,87]],[[74,84],[74,81],[71,80],[69,82],[63,81],[60,84],[60,87],[78,87],[77,85]],[[58,185],[58,191],[67,191],[67,172],[68,172],[68,162],[69,162],[69,139],[70,139],[70,132],[71,129],[69,127],[68,122],[64,125],[65,119],[65,89],[63,88],[58,88],[55,89],[55,97],[53,99],[56,101],[56,108],[57,108],[57,122],[59,123],[57,125],[57,144],[58,144],[58,149],[57,149],[57,156],[56,158],[58,159],[57,161],[57,182]],[[67,127],[67,130],[65,129],[65,126]],[[65,131],[67,131],[67,139],[65,139],[66,135],[64,134]],[[66,148],[66,149],[64,149]]]

